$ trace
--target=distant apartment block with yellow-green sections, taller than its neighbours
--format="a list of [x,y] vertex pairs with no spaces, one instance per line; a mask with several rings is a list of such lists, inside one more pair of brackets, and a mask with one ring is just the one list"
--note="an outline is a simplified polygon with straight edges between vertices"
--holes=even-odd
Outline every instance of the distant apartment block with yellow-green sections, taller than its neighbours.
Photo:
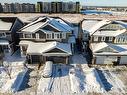
[[79,13],[79,2],[37,2],[37,12],[41,13]]

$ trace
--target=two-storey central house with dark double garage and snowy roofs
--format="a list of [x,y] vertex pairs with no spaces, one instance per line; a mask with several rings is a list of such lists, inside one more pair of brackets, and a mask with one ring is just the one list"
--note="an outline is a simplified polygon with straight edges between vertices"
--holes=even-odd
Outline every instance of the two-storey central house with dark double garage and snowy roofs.
[[38,17],[20,29],[22,57],[29,63],[68,63],[75,44],[70,24],[61,18]]

